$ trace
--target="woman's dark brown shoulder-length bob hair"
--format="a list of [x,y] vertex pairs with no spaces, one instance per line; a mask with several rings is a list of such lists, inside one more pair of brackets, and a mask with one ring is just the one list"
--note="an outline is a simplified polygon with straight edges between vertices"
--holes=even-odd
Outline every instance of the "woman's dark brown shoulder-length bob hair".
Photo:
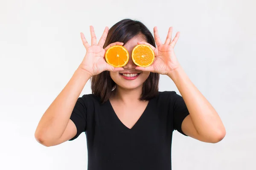
[[[155,45],[154,37],[148,28],[140,21],[124,19],[113,25],[109,31],[103,48],[106,48],[113,42],[123,42],[124,45],[137,35],[142,35],[146,42]],[[140,100],[149,100],[158,94],[159,84],[158,73],[150,73],[148,79],[143,83]],[[114,92],[116,83],[111,79],[109,71],[95,75],[91,78],[92,94],[98,96],[101,102],[106,102]]]

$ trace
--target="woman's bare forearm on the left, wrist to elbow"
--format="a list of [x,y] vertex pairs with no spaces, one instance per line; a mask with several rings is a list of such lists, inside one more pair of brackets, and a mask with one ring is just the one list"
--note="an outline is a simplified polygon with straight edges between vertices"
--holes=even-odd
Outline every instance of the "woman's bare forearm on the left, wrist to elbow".
[[35,131],[37,138],[55,140],[61,137],[88,79],[90,76],[82,69],[75,71],[70,81],[42,116]]

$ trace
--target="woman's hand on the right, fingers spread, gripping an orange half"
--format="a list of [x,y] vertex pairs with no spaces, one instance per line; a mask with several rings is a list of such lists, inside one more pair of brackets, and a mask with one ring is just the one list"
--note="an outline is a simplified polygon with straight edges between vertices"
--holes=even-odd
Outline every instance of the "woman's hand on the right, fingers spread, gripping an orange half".
[[174,39],[172,40],[172,27],[170,27],[168,31],[168,35],[166,37],[166,41],[163,44],[158,35],[157,27],[154,27],[154,39],[155,39],[157,48],[155,48],[154,46],[152,46],[147,42],[138,42],[138,44],[149,45],[155,53],[155,60],[148,67],[137,66],[135,69],[169,75],[171,74],[172,71],[179,68],[180,64],[177,61],[177,58],[175,56],[174,49],[173,49],[179,38],[179,35],[180,35],[180,32],[177,32]]

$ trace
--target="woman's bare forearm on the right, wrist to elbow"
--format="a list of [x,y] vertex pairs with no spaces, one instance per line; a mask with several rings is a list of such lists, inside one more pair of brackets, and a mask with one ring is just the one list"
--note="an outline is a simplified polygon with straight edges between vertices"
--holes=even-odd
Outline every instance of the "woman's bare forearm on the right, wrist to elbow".
[[180,91],[198,134],[205,138],[221,136],[225,128],[218,113],[191,82],[183,68],[176,69],[168,76]]

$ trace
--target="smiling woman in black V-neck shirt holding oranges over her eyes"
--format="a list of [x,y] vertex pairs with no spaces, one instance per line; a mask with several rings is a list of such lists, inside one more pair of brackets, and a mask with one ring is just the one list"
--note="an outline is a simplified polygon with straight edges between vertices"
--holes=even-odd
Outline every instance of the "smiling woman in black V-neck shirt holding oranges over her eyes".
[[[97,43],[90,26],[86,48],[73,77],[49,106],[35,131],[45,146],[54,146],[86,133],[88,170],[170,170],[172,133],[177,130],[202,142],[216,143],[225,136],[218,113],[190,81],[174,52],[172,27],[164,43],[157,27],[154,38],[143,23],[121,20],[108,27]],[[155,45],[156,42],[156,45]],[[131,55],[137,44],[147,44],[156,59],[138,67],[131,59],[122,68],[105,62],[105,52],[123,45]],[[159,74],[173,80],[175,91],[158,91]],[[133,78],[131,78],[133,77]],[[81,97],[91,79],[92,94]]]

